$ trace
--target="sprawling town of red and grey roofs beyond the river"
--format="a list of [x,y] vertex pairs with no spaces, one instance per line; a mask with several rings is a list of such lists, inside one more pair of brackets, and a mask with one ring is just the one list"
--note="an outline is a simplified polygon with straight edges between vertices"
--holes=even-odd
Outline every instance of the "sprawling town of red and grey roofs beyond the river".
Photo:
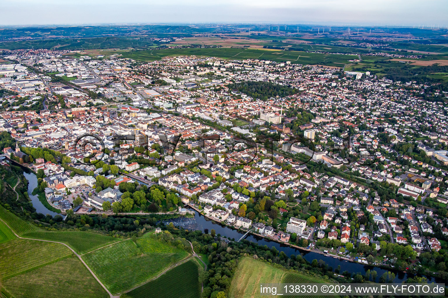
[[0,163],[35,172],[51,210],[196,210],[308,251],[448,277],[447,108],[422,99],[446,97],[437,85],[263,59],[1,58],[0,141],[13,145]]

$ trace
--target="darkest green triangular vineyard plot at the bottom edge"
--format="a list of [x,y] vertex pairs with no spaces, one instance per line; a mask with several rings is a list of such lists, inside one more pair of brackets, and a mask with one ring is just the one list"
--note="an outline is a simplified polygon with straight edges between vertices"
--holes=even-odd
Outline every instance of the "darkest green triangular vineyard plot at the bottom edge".
[[127,294],[131,298],[199,298],[198,277],[198,265],[190,260]]

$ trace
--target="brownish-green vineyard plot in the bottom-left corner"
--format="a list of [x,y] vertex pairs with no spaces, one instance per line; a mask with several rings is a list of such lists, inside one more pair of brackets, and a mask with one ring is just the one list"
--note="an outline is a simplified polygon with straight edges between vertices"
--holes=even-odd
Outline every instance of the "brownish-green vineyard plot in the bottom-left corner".
[[109,297],[77,257],[67,257],[8,278],[3,286],[13,297]]

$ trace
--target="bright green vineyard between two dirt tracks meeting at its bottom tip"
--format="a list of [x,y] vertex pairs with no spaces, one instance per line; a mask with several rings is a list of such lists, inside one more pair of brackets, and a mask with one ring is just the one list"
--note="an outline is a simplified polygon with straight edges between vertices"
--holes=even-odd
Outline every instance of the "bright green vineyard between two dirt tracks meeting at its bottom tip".
[[140,254],[135,243],[128,239],[86,253],[82,258],[109,291],[116,294],[142,284],[187,256],[184,251],[172,253],[171,248],[161,253],[152,252],[155,248],[153,244],[148,244],[141,249],[146,253]]

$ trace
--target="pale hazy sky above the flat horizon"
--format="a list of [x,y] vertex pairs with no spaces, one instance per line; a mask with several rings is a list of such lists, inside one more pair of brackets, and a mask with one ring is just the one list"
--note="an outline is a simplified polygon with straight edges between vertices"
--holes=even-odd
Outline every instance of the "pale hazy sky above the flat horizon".
[[327,23],[448,26],[447,0],[0,0],[0,25]]

